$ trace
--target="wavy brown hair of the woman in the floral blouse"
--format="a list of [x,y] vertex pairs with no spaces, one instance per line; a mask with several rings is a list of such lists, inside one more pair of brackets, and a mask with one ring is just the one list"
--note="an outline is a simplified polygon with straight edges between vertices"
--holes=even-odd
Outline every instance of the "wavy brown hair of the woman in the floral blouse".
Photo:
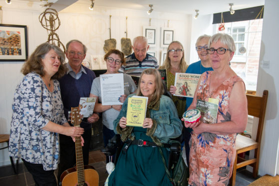
[[58,79],[62,77],[66,71],[67,67],[64,64],[65,54],[64,52],[56,45],[50,44],[48,42],[44,42],[37,46],[37,48],[33,51],[33,53],[29,56],[26,62],[23,64],[21,68],[21,73],[26,75],[30,72],[35,72],[40,76],[44,76],[45,71],[43,70],[43,65],[41,59],[44,58],[45,54],[49,52],[49,50],[53,49],[60,58],[60,66],[58,71],[51,77],[51,79]]

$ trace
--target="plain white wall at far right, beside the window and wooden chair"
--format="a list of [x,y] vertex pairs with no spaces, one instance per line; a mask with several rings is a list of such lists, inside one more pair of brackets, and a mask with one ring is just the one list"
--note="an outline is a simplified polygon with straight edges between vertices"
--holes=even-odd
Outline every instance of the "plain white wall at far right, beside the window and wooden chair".
[[[266,123],[263,130],[259,174],[279,174],[279,1],[265,0],[257,94],[269,90]],[[254,128],[253,128],[253,131]]]

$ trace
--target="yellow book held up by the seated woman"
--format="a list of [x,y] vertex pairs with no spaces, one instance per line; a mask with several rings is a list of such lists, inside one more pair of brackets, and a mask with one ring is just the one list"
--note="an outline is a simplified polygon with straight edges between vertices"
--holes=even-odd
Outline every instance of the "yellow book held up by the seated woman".
[[132,96],[128,98],[127,126],[142,127],[145,119],[148,97]]

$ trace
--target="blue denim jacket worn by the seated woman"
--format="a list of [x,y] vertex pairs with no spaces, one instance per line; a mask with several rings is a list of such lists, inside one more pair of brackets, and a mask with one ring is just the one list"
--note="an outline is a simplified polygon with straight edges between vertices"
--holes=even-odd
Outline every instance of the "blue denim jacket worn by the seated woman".
[[[135,94],[130,94],[128,97],[131,97]],[[124,101],[122,105],[122,109],[118,115],[118,117],[113,121],[114,124],[114,132],[123,134],[122,131],[125,131],[126,128],[119,130],[119,120],[122,116],[126,117],[127,115],[127,103],[128,103],[128,97]],[[153,120],[153,126],[152,128],[148,128],[146,134],[150,135],[152,139],[154,138],[159,139],[159,141],[154,140],[155,143],[167,143],[170,138],[175,138],[181,135],[182,133],[182,123],[181,120],[178,117],[178,113],[176,110],[176,107],[172,101],[172,99],[168,96],[162,95],[160,98],[159,103],[159,109],[149,109],[150,118]],[[154,106],[156,107],[156,106]],[[117,129],[118,128],[118,129]],[[129,130],[131,132],[130,139],[134,140],[132,133],[132,129]],[[122,140],[127,140],[123,139]],[[160,145],[160,144],[158,144]]]

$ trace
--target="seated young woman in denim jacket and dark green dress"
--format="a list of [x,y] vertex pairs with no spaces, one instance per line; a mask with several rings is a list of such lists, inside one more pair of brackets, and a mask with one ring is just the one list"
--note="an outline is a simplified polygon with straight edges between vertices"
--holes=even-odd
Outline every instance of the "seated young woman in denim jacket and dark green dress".
[[124,145],[106,185],[172,185],[159,146],[168,161],[170,151],[164,144],[181,135],[181,120],[172,99],[162,95],[164,89],[158,70],[145,69],[139,83],[136,95],[148,97],[146,118],[143,127],[126,126],[128,99],[124,101],[113,122]]

